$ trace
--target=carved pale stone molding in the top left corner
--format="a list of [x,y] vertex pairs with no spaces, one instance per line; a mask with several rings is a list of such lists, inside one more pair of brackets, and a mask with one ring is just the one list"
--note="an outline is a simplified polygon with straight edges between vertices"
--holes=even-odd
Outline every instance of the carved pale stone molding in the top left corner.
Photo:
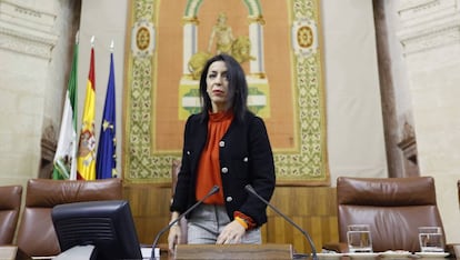
[[51,59],[58,41],[53,33],[56,14],[0,0],[0,48]]

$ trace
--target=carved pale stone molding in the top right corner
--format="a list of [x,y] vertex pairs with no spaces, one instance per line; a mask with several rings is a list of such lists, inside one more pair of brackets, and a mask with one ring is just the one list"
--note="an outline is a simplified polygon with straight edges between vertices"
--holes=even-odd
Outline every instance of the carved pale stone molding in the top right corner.
[[460,12],[457,0],[403,1],[398,32],[404,54],[460,44]]

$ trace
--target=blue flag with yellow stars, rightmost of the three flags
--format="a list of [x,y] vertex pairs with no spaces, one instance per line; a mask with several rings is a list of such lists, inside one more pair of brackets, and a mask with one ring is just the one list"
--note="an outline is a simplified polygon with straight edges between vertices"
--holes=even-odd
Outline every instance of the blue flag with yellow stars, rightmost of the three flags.
[[103,107],[101,136],[98,144],[96,173],[98,179],[117,177],[116,140],[116,93],[114,93],[113,52],[110,53],[110,73]]

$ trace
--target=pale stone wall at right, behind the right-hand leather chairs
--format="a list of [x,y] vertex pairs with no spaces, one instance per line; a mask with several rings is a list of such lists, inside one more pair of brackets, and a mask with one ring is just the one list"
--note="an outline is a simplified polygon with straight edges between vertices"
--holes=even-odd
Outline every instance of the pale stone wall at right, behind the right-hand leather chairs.
[[448,242],[460,241],[460,7],[401,1],[399,43],[410,81],[421,176],[433,176]]

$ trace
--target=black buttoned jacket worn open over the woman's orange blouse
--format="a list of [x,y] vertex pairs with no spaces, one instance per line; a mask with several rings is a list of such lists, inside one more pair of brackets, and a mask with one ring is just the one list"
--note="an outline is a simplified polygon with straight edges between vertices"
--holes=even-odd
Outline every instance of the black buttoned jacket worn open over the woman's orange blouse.
[[[178,176],[171,211],[184,212],[197,202],[197,169],[208,136],[208,116],[192,114],[186,123],[182,166]],[[220,176],[227,213],[233,220],[239,210],[252,218],[257,227],[267,222],[267,206],[244,187],[252,188],[270,201],[276,186],[273,153],[261,118],[247,112],[233,119],[219,143]],[[189,216],[187,216],[188,218]]]

